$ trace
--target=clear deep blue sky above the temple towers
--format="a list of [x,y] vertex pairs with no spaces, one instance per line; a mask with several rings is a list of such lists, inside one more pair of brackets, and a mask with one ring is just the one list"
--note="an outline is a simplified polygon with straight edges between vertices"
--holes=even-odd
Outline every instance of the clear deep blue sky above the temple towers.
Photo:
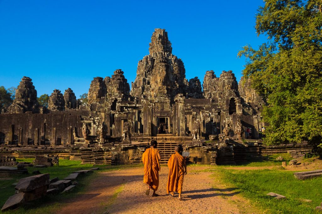
[[186,78],[203,82],[232,70],[240,80],[242,46],[257,48],[253,1],[0,0],[0,86],[33,79],[38,96],[52,90],[87,93],[96,76],[124,71],[131,85],[155,28],[164,28]]

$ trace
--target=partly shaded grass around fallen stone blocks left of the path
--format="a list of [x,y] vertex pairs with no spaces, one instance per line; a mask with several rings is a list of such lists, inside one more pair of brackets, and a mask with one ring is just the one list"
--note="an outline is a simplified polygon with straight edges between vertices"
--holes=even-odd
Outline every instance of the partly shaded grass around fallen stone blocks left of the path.
[[[33,159],[17,159],[18,162],[32,162]],[[50,178],[58,177],[59,179],[63,179],[67,175],[71,174],[74,171],[82,170],[82,169],[90,169],[96,166],[92,164],[81,164],[81,161],[78,160],[59,160],[59,166],[47,167],[47,168],[34,168],[28,167],[29,174],[28,175],[14,175],[5,179],[0,178],[0,208],[5,204],[5,201],[12,195],[14,195],[14,185],[13,183],[17,183],[21,178],[32,176],[32,172],[34,170],[39,170],[41,173],[49,173]],[[111,171],[118,170],[124,167],[137,167],[136,165],[130,166],[110,166],[110,165],[99,165],[99,172],[102,171]],[[77,186],[69,193],[57,194],[57,195],[46,195],[43,198],[28,203],[24,205],[24,207],[8,210],[3,213],[5,214],[42,214],[42,213],[52,213],[59,210],[67,199],[71,199],[81,195],[86,192],[86,186],[89,184],[96,176],[98,172],[94,171],[94,173],[82,175],[77,178]],[[0,211],[1,213],[1,211]]]

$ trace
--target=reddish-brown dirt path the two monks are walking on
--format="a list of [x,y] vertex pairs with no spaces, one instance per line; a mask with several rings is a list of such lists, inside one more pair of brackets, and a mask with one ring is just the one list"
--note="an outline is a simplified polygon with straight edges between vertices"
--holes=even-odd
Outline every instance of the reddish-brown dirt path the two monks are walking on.
[[166,195],[166,166],[161,168],[158,197],[144,194],[143,167],[102,172],[86,194],[66,202],[57,213],[254,213],[236,188],[214,182],[216,178],[212,179],[211,173],[194,171],[204,168],[207,167],[188,167],[181,201],[177,194],[174,198]]

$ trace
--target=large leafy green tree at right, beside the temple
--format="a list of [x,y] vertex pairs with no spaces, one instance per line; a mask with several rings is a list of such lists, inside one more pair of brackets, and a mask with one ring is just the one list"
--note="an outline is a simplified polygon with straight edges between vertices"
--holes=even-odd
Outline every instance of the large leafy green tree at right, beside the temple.
[[243,75],[267,98],[267,144],[308,141],[322,157],[322,0],[265,0],[256,15],[258,50],[243,47]]

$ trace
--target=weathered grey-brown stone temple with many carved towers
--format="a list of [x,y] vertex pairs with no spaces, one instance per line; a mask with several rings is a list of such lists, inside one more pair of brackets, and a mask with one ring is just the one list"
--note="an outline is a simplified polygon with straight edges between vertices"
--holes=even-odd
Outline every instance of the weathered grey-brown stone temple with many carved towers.
[[203,86],[198,77],[187,80],[167,32],[155,29],[131,88],[120,69],[94,77],[87,105],[68,88],[53,90],[48,108],[42,107],[32,79],[23,77],[13,104],[0,114],[0,149],[16,157],[50,151],[84,163],[133,164],[156,139],[163,163],[178,144],[190,151],[191,162],[236,162],[250,150],[242,141],[245,129],[258,139],[265,105],[243,79],[206,71]]

